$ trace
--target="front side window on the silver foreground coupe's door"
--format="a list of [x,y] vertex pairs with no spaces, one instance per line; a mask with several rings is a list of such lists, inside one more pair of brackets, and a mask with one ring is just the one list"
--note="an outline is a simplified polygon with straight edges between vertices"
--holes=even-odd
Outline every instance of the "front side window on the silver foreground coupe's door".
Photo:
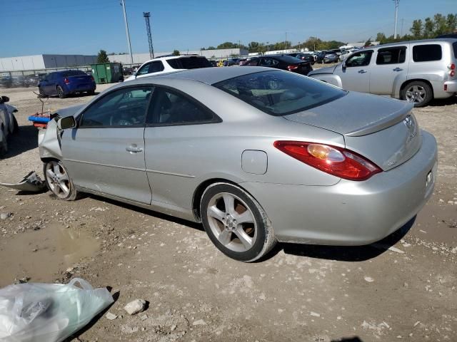
[[129,87],[111,91],[82,114],[80,128],[144,125],[151,87]]

